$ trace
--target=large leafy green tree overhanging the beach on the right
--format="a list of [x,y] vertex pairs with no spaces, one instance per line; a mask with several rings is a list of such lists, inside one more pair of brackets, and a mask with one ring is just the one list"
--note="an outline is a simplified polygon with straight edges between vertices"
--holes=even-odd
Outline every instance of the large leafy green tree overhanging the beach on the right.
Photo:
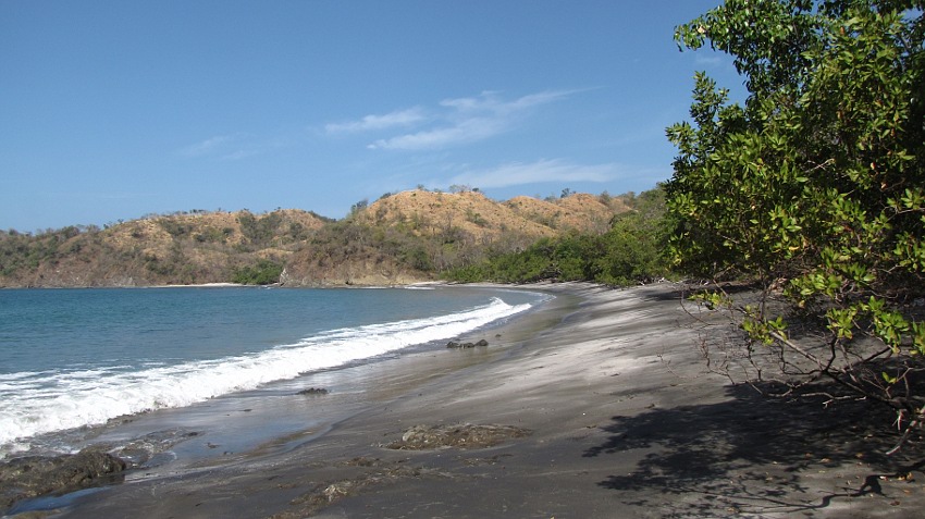
[[[830,399],[889,405],[903,427],[925,412],[915,388],[925,323],[903,306],[925,287],[923,8],[727,0],[676,40],[730,54],[748,99],[730,103],[699,73],[691,123],[667,129],[679,149],[666,186],[673,258],[761,287],[754,305],[701,296],[739,313],[751,339],[743,358],[775,351],[785,372],[804,375],[782,379],[785,393],[826,379]],[[778,286],[789,307],[767,304]],[[817,322],[824,338],[797,338],[797,322]]]

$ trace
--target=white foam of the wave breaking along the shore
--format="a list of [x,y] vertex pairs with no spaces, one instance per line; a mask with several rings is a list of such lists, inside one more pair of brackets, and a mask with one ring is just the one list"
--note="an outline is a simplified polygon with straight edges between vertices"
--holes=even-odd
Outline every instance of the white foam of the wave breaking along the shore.
[[[324,332],[256,354],[175,366],[13,373],[0,378],[0,457],[37,434],[111,418],[182,407],[301,373],[343,366],[407,346],[456,337],[522,312],[501,299],[429,319]],[[144,366],[144,363],[143,363]]]

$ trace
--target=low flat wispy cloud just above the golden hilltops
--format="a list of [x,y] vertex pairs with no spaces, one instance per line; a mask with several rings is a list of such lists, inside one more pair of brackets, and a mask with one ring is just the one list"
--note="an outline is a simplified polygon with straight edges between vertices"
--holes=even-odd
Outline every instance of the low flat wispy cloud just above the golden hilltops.
[[491,188],[547,182],[608,182],[618,176],[620,168],[614,163],[581,165],[558,159],[543,159],[531,163],[511,162],[491,170],[465,172],[456,175],[451,183]]

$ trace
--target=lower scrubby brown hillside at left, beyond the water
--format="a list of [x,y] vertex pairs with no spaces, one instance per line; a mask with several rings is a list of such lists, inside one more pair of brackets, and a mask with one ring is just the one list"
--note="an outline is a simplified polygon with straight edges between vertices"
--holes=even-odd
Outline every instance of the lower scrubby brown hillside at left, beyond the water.
[[235,269],[283,263],[325,221],[300,210],[195,212],[106,230],[65,227],[0,236],[0,286],[143,286],[217,283]]

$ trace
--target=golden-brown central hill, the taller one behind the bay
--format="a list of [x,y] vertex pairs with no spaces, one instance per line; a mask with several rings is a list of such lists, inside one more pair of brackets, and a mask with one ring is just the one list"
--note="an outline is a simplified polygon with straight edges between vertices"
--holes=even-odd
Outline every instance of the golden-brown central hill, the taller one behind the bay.
[[[542,237],[606,230],[604,222],[627,210],[619,199],[591,195],[534,203],[559,220],[542,221],[471,190],[384,196],[320,230],[293,255],[283,277],[296,285],[428,281],[490,255],[522,250]],[[597,219],[588,219],[589,213]]]

